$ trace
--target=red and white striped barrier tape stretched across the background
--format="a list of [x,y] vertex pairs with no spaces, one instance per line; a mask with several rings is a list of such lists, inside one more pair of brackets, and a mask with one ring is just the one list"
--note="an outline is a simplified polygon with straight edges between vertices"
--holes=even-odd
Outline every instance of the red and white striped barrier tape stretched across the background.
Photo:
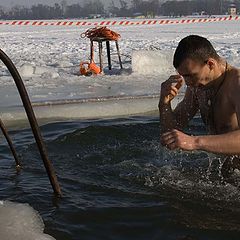
[[227,16],[216,18],[189,18],[189,19],[162,19],[162,20],[143,20],[143,21],[0,21],[0,26],[137,26],[137,25],[166,25],[166,24],[186,24],[186,23],[209,23],[240,20],[240,16]]

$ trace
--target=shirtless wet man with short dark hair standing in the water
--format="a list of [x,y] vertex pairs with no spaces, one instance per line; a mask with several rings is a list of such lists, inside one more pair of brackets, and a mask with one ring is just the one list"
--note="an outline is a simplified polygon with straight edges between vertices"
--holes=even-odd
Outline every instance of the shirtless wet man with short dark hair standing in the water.
[[[170,150],[203,150],[227,156],[222,168],[227,177],[235,168],[240,169],[236,156],[240,156],[240,70],[220,58],[206,38],[196,35],[179,42],[173,65],[179,74],[161,85],[161,143]],[[172,110],[171,101],[184,81],[185,96]],[[210,135],[183,132],[198,111]]]

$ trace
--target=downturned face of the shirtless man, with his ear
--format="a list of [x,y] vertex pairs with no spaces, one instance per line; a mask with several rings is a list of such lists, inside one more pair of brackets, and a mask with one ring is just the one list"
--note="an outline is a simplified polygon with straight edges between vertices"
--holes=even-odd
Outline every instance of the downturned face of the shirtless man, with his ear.
[[183,76],[185,83],[190,87],[199,87],[205,85],[209,79],[210,68],[206,62],[186,59],[177,68],[178,73]]

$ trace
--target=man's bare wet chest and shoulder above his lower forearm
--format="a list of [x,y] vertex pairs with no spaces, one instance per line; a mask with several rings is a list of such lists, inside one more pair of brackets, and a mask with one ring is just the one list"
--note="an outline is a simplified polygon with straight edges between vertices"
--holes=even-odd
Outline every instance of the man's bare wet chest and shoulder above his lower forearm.
[[[210,133],[223,134],[239,129],[238,119],[240,116],[237,108],[240,103],[234,102],[238,96],[235,98],[232,96],[237,94],[234,88],[238,87],[239,73],[239,70],[228,67],[221,86],[219,86],[219,82],[216,82],[216,86],[193,89],[201,116],[205,124],[209,125]],[[217,92],[214,91],[214,87],[218,90]]]

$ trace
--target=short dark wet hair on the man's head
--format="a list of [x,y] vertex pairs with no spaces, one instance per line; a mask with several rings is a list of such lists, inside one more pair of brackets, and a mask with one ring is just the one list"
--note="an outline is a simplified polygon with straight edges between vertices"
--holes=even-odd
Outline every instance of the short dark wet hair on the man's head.
[[212,44],[198,35],[187,36],[179,42],[174,53],[173,66],[177,69],[188,58],[201,63],[205,63],[209,58],[220,59]]

